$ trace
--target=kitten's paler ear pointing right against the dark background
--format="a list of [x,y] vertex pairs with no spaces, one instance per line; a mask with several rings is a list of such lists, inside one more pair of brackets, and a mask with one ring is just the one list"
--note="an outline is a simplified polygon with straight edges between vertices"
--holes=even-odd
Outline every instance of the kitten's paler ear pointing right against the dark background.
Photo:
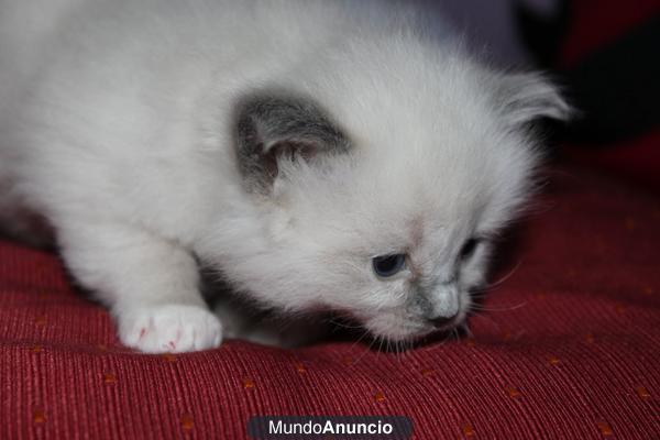
[[573,111],[559,89],[540,74],[513,74],[498,80],[497,106],[513,128],[540,118],[566,121]]

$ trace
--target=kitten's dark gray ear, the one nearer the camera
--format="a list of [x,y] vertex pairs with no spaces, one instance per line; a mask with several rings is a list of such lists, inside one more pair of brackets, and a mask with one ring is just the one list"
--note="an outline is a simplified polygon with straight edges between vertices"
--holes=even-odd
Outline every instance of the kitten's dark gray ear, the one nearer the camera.
[[314,162],[348,150],[346,138],[310,100],[257,95],[239,105],[238,162],[250,190],[270,193],[280,161]]

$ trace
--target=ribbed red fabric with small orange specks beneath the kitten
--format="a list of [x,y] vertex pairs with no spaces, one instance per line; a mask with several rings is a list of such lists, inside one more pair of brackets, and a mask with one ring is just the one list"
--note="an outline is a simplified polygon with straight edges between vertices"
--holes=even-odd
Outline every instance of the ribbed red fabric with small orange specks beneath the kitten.
[[143,355],[54,255],[0,244],[0,438],[246,438],[251,415],[406,415],[416,439],[660,438],[660,202],[557,170],[474,339]]

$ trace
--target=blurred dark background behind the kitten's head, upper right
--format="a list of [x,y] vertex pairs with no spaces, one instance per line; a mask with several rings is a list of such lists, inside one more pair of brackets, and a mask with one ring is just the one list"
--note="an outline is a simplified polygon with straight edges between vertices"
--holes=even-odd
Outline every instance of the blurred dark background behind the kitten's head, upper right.
[[502,67],[540,68],[578,110],[552,152],[660,193],[660,0],[413,0]]

